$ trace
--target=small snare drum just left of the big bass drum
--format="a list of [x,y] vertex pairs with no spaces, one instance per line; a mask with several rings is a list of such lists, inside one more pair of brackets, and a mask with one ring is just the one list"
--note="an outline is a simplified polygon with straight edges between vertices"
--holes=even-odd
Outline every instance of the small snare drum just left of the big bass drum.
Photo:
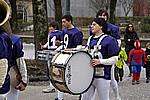
[[42,50],[37,51],[37,59],[39,60],[50,60],[57,52],[54,50]]

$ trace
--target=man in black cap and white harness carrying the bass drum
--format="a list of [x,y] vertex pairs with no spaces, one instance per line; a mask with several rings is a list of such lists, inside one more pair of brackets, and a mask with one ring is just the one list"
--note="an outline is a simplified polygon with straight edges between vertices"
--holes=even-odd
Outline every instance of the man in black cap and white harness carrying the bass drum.
[[99,100],[109,100],[111,67],[117,63],[119,47],[116,39],[106,35],[107,23],[103,18],[95,18],[92,21],[91,30],[93,36],[91,36],[87,46],[90,49],[94,49],[97,46],[99,55],[91,60],[91,64],[96,68],[97,74],[91,87],[82,94],[81,100],[93,100],[96,88]]

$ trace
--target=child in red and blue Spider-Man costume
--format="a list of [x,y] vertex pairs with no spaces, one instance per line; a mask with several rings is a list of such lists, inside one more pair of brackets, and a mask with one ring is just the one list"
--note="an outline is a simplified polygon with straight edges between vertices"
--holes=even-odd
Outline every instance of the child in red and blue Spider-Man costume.
[[145,51],[141,48],[139,40],[134,42],[134,48],[129,53],[128,62],[132,67],[132,85],[139,84],[141,66],[146,63]]

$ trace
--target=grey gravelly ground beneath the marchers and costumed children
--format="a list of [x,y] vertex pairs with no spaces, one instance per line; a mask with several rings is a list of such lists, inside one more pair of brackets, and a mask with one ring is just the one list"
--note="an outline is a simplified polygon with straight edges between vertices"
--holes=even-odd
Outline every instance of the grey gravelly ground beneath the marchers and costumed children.
[[[122,100],[150,100],[150,83],[145,83],[145,69],[142,69],[140,84],[132,85],[131,77],[128,77],[128,69],[125,67],[125,76],[119,82],[119,91]],[[30,82],[26,91],[20,93],[19,100],[54,100],[55,93],[42,93],[48,82]],[[65,94],[64,100],[78,100],[78,96]],[[99,100],[96,94],[95,100]],[[110,89],[110,100],[115,100],[114,93]]]

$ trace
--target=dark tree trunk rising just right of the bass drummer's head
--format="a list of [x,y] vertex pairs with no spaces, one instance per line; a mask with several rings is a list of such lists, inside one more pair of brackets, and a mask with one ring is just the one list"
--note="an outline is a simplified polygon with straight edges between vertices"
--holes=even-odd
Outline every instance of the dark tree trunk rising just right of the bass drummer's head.
[[110,18],[111,23],[115,23],[115,9],[116,9],[117,0],[110,0]]

